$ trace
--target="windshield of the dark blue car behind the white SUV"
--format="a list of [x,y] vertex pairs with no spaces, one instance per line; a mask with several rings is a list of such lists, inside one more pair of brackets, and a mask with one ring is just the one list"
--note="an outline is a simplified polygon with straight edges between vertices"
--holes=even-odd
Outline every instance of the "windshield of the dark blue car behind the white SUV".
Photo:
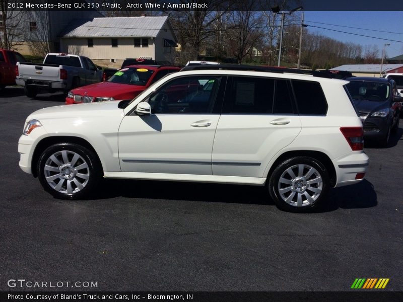
[[353,99],[385,102],[390,95],[390,86],[384,83],[352,81],[346,87]]

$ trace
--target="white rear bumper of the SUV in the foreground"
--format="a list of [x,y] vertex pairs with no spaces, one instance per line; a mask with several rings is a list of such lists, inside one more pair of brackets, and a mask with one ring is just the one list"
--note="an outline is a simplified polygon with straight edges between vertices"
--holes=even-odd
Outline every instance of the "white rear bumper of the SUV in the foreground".
[[357,174],[366,173],[369,158],[364,151],[355,151],[332,160],[336,170],[337,182],[334,186],[343,187],[359,183],[363,178],[356,179]]

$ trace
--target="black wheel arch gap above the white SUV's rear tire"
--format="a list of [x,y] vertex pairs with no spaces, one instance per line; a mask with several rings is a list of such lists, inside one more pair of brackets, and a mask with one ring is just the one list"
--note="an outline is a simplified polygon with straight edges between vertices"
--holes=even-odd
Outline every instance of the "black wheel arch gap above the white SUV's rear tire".
[[[274,169],[276,169],[276,167],[280,163],[282,163],[283,161],[285,161],[289,158],[298,157],[298,156],[311,157],[313,159],[318,160],[320,163],[322,163],[325,166],[325,168],[329,174],[330,185],[332,187],[335,186],[335,184],[337,183],[337,174],[336,174],[336,170],[334,169],[334,165],[331,162],[330,158],[323,152],[312,151],[312,150],[293,150],[293,151],[288,151],[288,152],[283,153],[276,159],[276,161],[270,167],[270,169],[268,170],[268,173],[266,175],[266,178],[267,179],[270,178],[270,176],[273,174]],[[267,183],[267,181],[266,181],[266,183]]]

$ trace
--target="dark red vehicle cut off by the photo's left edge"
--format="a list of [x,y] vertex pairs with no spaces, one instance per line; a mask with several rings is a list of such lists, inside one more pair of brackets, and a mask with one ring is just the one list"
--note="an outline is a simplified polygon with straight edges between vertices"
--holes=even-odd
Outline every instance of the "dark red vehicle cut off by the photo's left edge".
[[0,89],[16,85],[16,64],[26,61],[17,51],[0,49]]

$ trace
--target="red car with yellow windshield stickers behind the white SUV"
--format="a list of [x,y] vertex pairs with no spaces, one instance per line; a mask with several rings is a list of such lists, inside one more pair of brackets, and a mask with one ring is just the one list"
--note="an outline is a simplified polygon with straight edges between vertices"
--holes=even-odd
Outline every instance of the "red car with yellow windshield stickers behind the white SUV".
[[131,100],[168,73],[179,70],[180,68],[176,66],[127,66],[115,72],[107,82],[100,82],[69,91],[65,103]]

